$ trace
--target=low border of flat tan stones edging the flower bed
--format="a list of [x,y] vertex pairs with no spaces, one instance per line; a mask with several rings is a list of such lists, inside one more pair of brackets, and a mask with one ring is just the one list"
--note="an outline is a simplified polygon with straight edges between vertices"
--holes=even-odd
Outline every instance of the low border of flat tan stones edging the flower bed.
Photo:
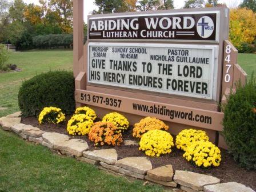
[[[255,192],[237,182],[220,183],[220,179],[210,175],[176,170],[171,165],[152,169],[151,162],[146,157],[126,157],[118,159],[115,149],[89,151],[87,142],[81,139],[70,139],[68,135],[50,133],[38,127],[21,123],[21,112],[0,118],[3,130],[13,131],[27,141],[41,144],[59,155],[74,157],[78,161],[101,166],[115,173],[128,175],[138,179],[158,183],[167,187],[179,186],[187,192]],[[127,142],[126,145],[135,145]]]

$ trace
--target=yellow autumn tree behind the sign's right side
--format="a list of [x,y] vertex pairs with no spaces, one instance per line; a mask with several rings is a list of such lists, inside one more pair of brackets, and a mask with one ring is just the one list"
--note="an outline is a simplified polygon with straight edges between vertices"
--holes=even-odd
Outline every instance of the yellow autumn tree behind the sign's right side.
[[242,43],[253,43],[256,36],[256,13],[241,8],[230,10],[229,38],[237,49]]

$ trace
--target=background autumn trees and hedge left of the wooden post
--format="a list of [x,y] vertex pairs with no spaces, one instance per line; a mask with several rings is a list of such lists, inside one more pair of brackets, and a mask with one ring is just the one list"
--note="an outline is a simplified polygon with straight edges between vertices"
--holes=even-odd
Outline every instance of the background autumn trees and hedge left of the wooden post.
[[[23,0],[14,0],[7,5],[6,0],[0,0],[0,42],[30,49],[37,35],[72,33],[71,0],[39,0],[39,3],[27,5]],[[9,13],[4,13],[8,7]]]

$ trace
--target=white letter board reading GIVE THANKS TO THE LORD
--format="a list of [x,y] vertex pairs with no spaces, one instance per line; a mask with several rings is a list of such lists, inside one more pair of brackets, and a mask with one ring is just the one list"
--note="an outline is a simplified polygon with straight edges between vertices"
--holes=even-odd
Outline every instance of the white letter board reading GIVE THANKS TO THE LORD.
[[89,43],[88,82],[216,99],[218,46]]

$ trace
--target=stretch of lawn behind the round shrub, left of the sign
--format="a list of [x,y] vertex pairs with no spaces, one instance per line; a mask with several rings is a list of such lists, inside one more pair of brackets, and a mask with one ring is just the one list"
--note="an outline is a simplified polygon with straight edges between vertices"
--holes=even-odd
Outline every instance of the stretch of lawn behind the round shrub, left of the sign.
[[73,51],[26,51],[12,53],[9,63],[21,72],[0,73],[0,117],[18,111],[17,95],[22,81],[50,70],[72,70]]

